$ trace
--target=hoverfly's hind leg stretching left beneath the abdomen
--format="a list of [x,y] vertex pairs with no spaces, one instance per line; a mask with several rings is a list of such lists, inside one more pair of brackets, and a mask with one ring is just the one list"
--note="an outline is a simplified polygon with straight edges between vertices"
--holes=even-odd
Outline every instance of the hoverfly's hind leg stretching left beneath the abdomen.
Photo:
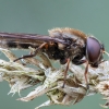
[[47,43],[41,44],[41,45],[35,50],[34,53],[26,55],[26,56],[23,56],[23,57],[21,57],[21,58],[17,58],[17,59],[14,60],[14,62],[15,62],[15,61],[19,61],[19,60],[21,60],[21,59],[33,58],[33,57],[35,57],[35,56],[37,55],[37,52],[38,52],[43,47],[45,47],[46,45],[47,45]]

